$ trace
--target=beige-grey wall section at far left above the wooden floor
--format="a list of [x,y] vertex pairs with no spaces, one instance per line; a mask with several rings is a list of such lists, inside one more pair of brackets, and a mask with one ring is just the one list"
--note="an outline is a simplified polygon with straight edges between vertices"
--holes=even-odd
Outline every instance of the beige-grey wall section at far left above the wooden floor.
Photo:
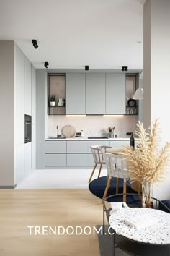
[[14,186],[14,42],[0,41],[0,187]]

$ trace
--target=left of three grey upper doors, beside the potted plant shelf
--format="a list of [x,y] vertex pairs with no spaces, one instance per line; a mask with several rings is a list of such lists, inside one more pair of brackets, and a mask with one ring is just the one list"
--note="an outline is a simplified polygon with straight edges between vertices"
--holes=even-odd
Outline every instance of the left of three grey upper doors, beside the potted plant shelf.
[[85,74],[66,74],[66,114],[85,114]]

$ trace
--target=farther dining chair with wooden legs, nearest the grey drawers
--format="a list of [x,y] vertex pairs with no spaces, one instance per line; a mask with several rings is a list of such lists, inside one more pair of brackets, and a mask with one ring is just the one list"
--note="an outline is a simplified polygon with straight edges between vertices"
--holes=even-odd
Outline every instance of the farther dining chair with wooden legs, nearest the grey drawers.
[[100,165],[99,174],[98,174],[98,179],[99,179],[99,176],[100,176],[100,173],[101,173],[101,170],[102,170],[102,166],[103,166],[103,164],[106,164],[105,160],[104,160],[104,153],[106,153],[107,148],[112,148],[112,147],[94,145],[94,146],[91,146],[90,148],[91,148],[92,155],[93,155],[93,158],[94,158],[94,168],[93,168],[93,171],[91,172],[89,182],[91,182],[91,179],[92,179],[94,171],[97,167],[97,164]]

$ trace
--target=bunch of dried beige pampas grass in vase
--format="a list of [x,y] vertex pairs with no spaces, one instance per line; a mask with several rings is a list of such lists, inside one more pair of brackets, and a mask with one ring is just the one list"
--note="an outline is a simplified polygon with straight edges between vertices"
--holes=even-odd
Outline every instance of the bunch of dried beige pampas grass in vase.
[[135,134],[138,136],[138,148],[123,147],[123,153],[128,159],[130,182],[140,182],[142,186],[143,206],[151,205],[153,184],[163,182],[166,169],[170,163],[170,142],[160,147],[161,136],[158,119],[146,132],[143,124],[138,121]]

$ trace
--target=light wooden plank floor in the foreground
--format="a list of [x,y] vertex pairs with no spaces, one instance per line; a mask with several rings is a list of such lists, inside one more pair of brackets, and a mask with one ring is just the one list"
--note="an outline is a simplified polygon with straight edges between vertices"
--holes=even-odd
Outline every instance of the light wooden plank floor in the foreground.
[[0,190],[0,255],[99,256],[97,234],[30,235],[27,228],[97,224],[102,204],[89,189]]

